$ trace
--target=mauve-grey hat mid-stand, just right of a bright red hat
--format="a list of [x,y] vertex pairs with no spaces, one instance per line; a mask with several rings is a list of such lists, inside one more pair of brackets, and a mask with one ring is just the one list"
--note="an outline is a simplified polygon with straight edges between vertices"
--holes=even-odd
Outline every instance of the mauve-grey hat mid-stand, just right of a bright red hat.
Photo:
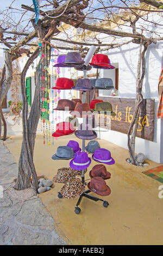
[[96,139],[97,134],[92,130],[90,124],[80,124],[78,130],[75,132],[75,135],[79,139],[86,139],[90,141],[91,139]]

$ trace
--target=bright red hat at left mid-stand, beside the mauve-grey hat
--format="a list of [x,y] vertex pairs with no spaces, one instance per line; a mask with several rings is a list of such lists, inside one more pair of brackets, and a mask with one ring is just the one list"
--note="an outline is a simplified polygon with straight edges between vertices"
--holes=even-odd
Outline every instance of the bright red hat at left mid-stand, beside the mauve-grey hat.
[[60,136],[70,135],[75,131],[76,129],[74,129],[71,123],[61,122],[56,125],[56,131],[52,134],[52,136],[60,137]]

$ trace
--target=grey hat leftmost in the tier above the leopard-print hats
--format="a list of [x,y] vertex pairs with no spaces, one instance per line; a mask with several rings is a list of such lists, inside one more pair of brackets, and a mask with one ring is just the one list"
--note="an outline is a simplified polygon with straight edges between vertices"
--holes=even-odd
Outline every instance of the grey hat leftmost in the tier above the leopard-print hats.
[[73,149],[67,146],[59,146],[57,153],[52,156],[53,160],[69,160],[74,157]]

